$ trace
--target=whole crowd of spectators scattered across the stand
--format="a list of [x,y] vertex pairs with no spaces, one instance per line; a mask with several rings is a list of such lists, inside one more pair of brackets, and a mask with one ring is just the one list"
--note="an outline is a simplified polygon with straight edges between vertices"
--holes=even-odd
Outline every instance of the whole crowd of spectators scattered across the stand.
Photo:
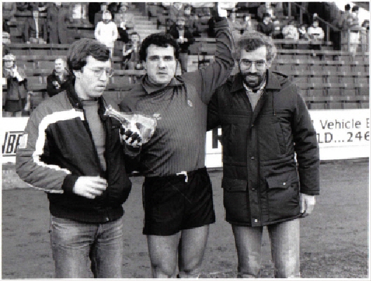
[[[342,37],[349,33],[349,51],[355,54],[360,44],[368,44],[368,30],[370,21],[365,20],[360,24],[358,20],[358,6],[351,7],[347,4],[344,13],[327,15],[327,6],[323,3],[313,5],[312,3],[301,2],[306,9],[302,22],[298,23],[298,8],[294,4],[291,11],[287,3],[281,2],[240,2],[229,8],[229,27],[234,37],[240,37],[245,32],[256,30],[273,39],[288,39],[308,41],[308,47],[319,49],[325,40],[323,21],[328,20],[337,29],[341,30]],[[147,3],[146,11],[149,18],[158,18],[161,22],[161,15],[165,15],[164,24],[166,32],[171,34],[180,44],[180,68],[187,72],[187,61],[189,49],[194,44],[196,37],[215,37],[214,25],[215,15],[208,4],[187,4],[182,2]],[[67,34],[67,25],[78,23],[88,25],[94,29],[94,37],[106,45],[111,56],[114,55],[114,48],[120,42],[120,54],[122,68],[125,70],[142,70],[139,59],[139,46],[141,43],[140,32],[135,28],[135,18],[130,12],[133,4],[127,2],[91,2],[91,3],[29,3],[29,2],[3,2],[3,60],[4,65],[10,65],[15,56],[11,55],[11,49],[7,44],[11,43],[12,22],[23,21],[23,41],[27,44],[67,44],[71,43]],[[17,19],[16,13],[28,13],[27,17]],[[328,12],[330,13],[330,12]],[[288,15],[291,15],[289,17]],[[337,49],[337,42],[340,38],[332,32],[334,48]],[[116,43],[117,41],[117,43]],[[313,42],[319,42],[313,44]],[[295,48],[294,44],[283,44],[283,48]],[[6,56],[11,55],[11,56]],[[63,60],[58,60],[63,65]],[[9,67],[4,67],[3,77],[20,78],[18,84],[27,88],[27,78],[24,71],[18,67],[15,72]],[[53,77],[53,79],[51,78]],[[48,93],[63,89],[66,81],[66,74],[58,70],[57,61],[55,70],[48,77]],[[22,81],[26,81],[23,82]],[[13,83],[14,84],[14,83]],[[49,91],[53,89],[53,91]],[[27,89],[26,91],[27,92]],[[50,94],[52,96],[53,93]],[[24,101],[24,100],[23,100]],[[12,107],[13,108],[13,107]]]

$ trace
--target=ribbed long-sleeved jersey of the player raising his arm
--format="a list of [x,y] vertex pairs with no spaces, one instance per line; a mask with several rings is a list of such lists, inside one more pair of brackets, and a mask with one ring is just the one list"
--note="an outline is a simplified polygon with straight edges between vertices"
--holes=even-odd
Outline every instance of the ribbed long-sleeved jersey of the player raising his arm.
[[150,86],[144,76],[121,102],[123,111],[160,117],[154,135],[140,151],[145,176],[166,176],[205,166],[208,102],[234,66],[227,20],[217,22],[215,28],[217,53],[208,67],[174,77],[163,89]]

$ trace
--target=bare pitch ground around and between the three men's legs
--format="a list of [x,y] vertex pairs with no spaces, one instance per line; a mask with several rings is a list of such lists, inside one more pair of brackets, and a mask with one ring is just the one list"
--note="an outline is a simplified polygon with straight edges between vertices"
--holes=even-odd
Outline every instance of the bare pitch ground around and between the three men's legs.
[[[52,278],[49,212],[46,195],[8,181],[3,171],[2,278]],[[231,227],[224,221],[222,173],[211,171],[217,222],[210,226],[201,277],[236,277],[237,258]],[[149,278],[147,242],[142,235],[142,177],[133,177],[126,210],[126,278]],[[368,162],[321,164],[321,195],[311,216],[301,221],[301,272],[307,278],[367,278]],[[263,276],[273,277],[267,231],[263,239]]]

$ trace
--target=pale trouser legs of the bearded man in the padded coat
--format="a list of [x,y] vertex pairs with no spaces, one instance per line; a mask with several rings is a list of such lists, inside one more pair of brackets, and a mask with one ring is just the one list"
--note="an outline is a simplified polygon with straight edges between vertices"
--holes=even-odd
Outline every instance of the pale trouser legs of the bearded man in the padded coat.
[[[299,218],[267,226],[276,278],[300,277]],[[260,277],[263,227],[232,225],[238,254],[237,277]]]

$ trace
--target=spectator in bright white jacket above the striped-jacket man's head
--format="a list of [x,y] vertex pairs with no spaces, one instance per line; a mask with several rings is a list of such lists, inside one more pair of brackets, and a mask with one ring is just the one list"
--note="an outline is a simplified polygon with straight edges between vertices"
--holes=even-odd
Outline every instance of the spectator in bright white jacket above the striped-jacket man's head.
[[115,23],[112,22],[112,15],[109,11],[103,13],[102,21],[98,22],[97,27],[95,27],[94,35],[95,39],[109,48],[112,57],[114,53],[114,42],[119,37],[119,33],[117,32]]

